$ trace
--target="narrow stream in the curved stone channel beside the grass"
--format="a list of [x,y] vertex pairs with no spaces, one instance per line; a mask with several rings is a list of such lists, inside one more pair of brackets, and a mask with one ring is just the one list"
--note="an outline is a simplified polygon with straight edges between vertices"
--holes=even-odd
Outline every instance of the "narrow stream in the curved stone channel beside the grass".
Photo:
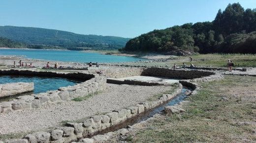
[[132,117],[131,119],[127,119],[124,122],[121,122],[117,125],[111,126],[111,127],[107,128],[105,130],[102,130],[100,132],[96,132],[93,135],[89,135],[87,138],[90,138],[90,137],[96,136],[96,135],[102,135],[102,134],[105,134],[108,132],[117,131],[122,128],[127,128],[128,126],[131,126],[131,125],[139,123],[143,120],[149,119],[149,118],[153,117],[155,114],[158,114],[158,113],[161,114],[163,112],[165,106],[175,105],[175,104],[183,101],[187,97],[188,94],[191,94],[191,92],[192,92],[191,88],[187,88],[187,87],[183,86],[181,93],[179,95],[175,96],[174,98],[172,98],[171,100],[169,100],[153,109],[146,110],[145,112],[143,112],[135,117]]

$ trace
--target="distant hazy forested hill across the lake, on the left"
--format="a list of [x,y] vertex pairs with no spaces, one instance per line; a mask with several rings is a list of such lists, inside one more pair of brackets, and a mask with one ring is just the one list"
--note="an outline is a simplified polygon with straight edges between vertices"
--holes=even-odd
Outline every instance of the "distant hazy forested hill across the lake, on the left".
[[54,29],[17,26],[0,26],[0,37],[32,46],[58,46],[69,49],[118,49],[123,48],[129,40],[115,36],[81,35]]

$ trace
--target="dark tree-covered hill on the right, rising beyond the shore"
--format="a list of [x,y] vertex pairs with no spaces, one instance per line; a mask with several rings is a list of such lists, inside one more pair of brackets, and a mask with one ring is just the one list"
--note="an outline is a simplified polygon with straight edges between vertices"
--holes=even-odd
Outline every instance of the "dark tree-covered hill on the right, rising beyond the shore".
[[256,9],[228,4],[213,22],[183,24],[154,30],[128,41],[125,51],[172,51],[200,53],[256,53]]

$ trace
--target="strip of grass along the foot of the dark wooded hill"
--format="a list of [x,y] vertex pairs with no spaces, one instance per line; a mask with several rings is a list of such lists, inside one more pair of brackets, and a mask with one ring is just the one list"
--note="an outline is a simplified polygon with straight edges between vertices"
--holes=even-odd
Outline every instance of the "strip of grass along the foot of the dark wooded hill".
[[[144,55],[145,56],[145,55]],[[142,56],[143,57],[143,56]],[[226,67],[227,60],[230,59],[234,63],[234,67],[256,67],[256,55],[255,54],[196,54],[192,56],[165,56],[163,62],[137,62],[126,63],[127,65],[136,66],[169,66],[174,64],[182,66],[185,63],[187,66],[192,63],[197,67]],[[192,62],[190,62],[192,57]]]

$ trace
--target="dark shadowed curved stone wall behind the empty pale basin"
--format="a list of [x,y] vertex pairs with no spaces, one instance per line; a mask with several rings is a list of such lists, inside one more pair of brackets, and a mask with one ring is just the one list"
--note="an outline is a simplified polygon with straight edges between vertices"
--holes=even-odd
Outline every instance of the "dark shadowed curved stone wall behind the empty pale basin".
[[203,76],[210,76],[215,72],[210,71],[197,71],[197,70],[178,70],[166,68],[147,68],[142,71],[141,75],[144,76],[160,76],[174,79],[193,79]]

